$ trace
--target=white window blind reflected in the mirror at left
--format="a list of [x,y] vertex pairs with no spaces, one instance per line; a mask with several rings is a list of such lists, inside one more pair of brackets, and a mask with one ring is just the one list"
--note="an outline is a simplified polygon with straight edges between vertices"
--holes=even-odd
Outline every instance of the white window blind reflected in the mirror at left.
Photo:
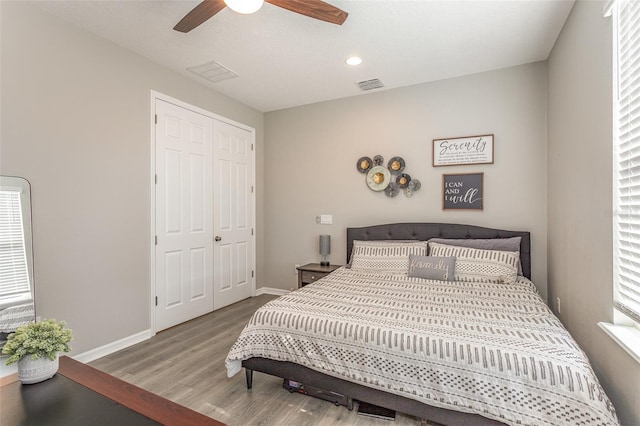
[[0,304],[30,299],[20,189],[0,190]]

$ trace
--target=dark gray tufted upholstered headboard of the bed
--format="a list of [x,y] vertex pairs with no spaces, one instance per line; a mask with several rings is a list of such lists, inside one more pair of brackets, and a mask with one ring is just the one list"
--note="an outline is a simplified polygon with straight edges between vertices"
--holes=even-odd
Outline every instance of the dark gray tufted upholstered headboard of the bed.
[[505,231],[454,223],[391,223],[387,225],[347,228],[347,263],[353,240],[428,240],[430,238],[511,238],[522,237],[520,261],[522,274],[531,278],[531,235],[529,232]]

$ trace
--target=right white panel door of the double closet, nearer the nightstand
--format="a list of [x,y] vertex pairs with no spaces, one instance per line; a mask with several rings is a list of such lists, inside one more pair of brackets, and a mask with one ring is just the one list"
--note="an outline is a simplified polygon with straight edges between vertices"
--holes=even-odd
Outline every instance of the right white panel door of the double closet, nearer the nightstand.
[[214,122],[214,308],[253,296],[253,133]]

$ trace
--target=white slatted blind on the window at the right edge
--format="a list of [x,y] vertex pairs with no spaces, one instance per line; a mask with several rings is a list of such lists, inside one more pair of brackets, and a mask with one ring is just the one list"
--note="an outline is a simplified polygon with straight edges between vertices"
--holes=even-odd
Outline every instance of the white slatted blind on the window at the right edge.
[[640,1],[616,1],[614,16],[614,304],[640,321]]

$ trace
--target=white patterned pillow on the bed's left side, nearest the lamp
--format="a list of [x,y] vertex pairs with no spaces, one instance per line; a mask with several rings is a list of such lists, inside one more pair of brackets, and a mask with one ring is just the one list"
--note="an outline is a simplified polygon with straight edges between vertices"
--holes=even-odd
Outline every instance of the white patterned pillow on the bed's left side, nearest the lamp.
[[409,256],[426,256],[426,241],[376,240],[353,241],[351,269],[406,274]]

